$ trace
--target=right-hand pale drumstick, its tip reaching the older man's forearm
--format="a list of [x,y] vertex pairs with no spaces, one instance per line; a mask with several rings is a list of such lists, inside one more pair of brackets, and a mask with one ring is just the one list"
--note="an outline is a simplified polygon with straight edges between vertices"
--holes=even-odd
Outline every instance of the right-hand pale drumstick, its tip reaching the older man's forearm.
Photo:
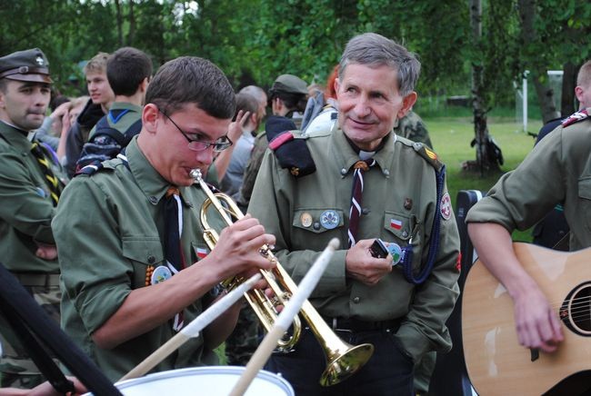
[[243,395],[248,389],[250,382],[253,381],[258,371],[263,368],[265,362],[277,346],[277,342],[283,337],[283,334],[287,331],[291,322],[293,322],[295,315],[302,308],[302,304],[316,287],[338,245],[338,239],[333,238],[326,246],[324,252],[318,256],[316,262],[314,262],[310,270],[306,273],[306,276],[304,276],[304,279],[302,279],[302,282],[298,285],[297,292],[285,304],[284,310],[279,314],[271,331],[266,333],[263,342],[261,342],[253,357],[246,364],[245,371],[236,382],[230,392],[230,396]]

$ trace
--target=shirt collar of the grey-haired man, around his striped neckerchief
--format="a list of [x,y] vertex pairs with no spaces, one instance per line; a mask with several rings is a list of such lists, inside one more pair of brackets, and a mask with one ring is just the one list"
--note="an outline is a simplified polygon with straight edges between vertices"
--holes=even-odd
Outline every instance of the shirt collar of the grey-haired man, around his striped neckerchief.
[[[382,146],[373,156],[376,160],[376,165],[381,169],[382,174],[387,178],[390,174],[390,166],[394,160],[394,144],[396,143],[396,134],[390,132],[384,137]],[[345,133],[340,129],[336,129],[330,135],[330,150],[336,158],[336,163],[340,169],[341,177],[345,177],[347,173],[353,172],[353,164],[359,161],[359,154],[349,144]]]

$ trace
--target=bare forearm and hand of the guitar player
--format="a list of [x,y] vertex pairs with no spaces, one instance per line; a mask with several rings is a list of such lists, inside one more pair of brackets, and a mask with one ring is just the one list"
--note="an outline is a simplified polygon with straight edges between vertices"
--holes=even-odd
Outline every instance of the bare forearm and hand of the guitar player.
[[526,348],[556,351],[564,340],[556,312],[513,251],[510,233],[496,223],[468,223],[470,239],[483,262],[514,302],[517,338]]

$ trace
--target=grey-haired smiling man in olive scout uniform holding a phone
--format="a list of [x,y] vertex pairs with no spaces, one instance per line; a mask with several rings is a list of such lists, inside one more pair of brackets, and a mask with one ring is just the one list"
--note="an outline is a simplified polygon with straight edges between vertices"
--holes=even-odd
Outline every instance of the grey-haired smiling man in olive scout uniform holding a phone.
[[[272,150],[249,213],[275,234],[276,255],[295,282],[331,238],[341,241],[311,302],[346,342],[376,347],[355,375],[323,389],[325,357],[305,331],[295,351],[267,366],[298,394],[411,395],[415,363],[451,348],[445,322],[458,295],[459,236],[445,167],[392,132],[416,102],[419,69],[403,46],[358,35],[341,58],[333,131],[298,136],[284,132],[288,121],[275,131],[267,123]],[[370,252],[376,238],[387,243],[384,258]]]

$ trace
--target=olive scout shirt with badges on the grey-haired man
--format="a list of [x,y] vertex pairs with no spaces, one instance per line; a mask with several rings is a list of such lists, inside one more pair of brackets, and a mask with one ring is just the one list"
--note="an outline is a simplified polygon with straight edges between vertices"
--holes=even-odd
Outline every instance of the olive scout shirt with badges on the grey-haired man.
[[[416,153],[412,142],[388,134],[364,173],[362,215],[357,238],[381,238],[405,247],[412,238],[415,272],[426,264],[436,208],[434,167]],[[348,213],[358,154],[339,129],[315,133],[307,146],[316,172],[296,178],[282,169],[270,150],[255,183],[248,213],[276,237],[276,255],[300,282],[332,238],[341,242],[310,302],[325,317],[361,321],[402,319],[397,336],[415,361],[428,350],[449,350],[445,322],[458,295],[456,260],[459,235],[451,206],[441,221],[433,272],[420,286],[406,282],[394,268],[374,286],[346,277]],[[417,147],[422,147],[420,144]],[[446,197],[449,195],[445,194]]]

